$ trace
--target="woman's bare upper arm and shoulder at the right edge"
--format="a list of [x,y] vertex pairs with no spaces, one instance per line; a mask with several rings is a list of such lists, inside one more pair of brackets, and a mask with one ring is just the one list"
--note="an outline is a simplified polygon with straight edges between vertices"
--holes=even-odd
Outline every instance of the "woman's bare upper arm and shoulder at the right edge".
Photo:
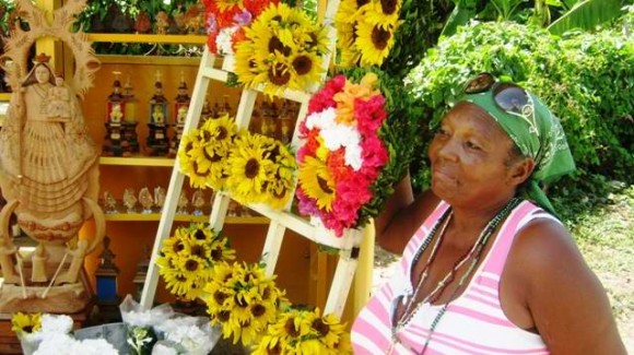
[[565,228],[536,221],[516,244],[526,304],[552,354],[626,354],[606,291]]

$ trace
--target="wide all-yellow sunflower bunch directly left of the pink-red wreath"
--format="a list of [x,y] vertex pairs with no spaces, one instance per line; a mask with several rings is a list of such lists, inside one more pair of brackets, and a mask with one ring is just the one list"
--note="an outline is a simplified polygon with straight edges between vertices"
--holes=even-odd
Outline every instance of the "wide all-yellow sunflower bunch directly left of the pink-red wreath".
[[180,170],[195,188],[228,190],[237,202],[273,209],[283,208],[292,197],[293,153],[272,138],[237,132],[228,115],[184,134],[178,157]]

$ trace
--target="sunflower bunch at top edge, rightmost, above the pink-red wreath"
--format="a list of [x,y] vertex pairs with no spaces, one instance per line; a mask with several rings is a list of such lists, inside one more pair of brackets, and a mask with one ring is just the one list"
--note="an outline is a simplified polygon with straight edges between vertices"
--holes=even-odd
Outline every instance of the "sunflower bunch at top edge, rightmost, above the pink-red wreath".
[[334,16],[340,66],[380,66],[395,44],[402,0],[341,0]]

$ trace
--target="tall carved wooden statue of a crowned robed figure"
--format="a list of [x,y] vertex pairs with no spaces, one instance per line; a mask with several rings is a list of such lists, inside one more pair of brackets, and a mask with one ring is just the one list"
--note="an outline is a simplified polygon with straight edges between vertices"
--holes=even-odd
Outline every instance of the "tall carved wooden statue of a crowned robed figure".
[[[56,10],[52,24],[30,0],[16,0],[15,5],[30,29],[16,28],[0,57],[13,92],[0,131],[0,188],[8,200],[0,211],[4,276],[0,311],[74,312],[90,297],[80,282],[84,257],[105,235],[104,214],[96,202],[97,151],[78,98],[91,86],[99,63],[85,34],[70,32],[85,0],[68,1]],[[72,49],[77,69],[70,83],[56,76],[45,54],[25,72],[28,50],[43,36],[58,37]],[[12,213],[37,241],[31,255],[13,244]],[[95,220],[95,235],[80,238],[79,229],[90,217]]]

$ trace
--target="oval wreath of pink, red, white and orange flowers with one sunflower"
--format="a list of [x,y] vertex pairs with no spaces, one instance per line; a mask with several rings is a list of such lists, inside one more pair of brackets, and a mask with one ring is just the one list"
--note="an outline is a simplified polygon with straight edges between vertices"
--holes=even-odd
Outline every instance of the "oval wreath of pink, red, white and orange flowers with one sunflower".
[[359,84],[343,75],[331,79],[310,98],[300,127],[300,212],[337,236],[366,222],[360,210],[373,199],[373,184],[389,161],[378,135],[387,113],[377,84],[374,73]]

